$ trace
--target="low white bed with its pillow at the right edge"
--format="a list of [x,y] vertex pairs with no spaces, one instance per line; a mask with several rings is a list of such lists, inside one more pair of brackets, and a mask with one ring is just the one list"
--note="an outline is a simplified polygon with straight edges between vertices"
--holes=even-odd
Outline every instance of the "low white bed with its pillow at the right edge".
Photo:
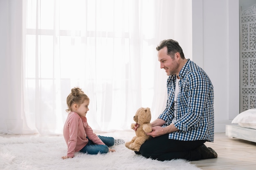
[[238,114],[226,125],[226,136],[256,142],[256,109],[249,109]]

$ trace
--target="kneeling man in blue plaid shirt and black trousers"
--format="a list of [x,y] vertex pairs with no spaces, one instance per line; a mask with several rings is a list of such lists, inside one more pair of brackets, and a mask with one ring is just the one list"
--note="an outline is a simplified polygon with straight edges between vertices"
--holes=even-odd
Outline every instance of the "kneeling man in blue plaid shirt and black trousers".
[[213,85],[207,74],[190,59],[185,59],[177,41],[163,40],[157,46],[158,61],[168,77],[166,108],[153,121],[152,136],[141,145],[144,157],[160,161],[171,159],[216,158],[206,141],[213,142]]

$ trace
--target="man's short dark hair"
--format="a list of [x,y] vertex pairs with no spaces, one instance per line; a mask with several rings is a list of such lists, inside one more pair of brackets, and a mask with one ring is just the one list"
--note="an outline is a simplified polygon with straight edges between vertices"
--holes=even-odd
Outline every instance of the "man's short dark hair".
[[166,39],[160,42],[160,44],[157,46],[157,51],[161,50],[162,48],[167,47],[168,55],[172,58],[174,57],[174,54],[176,52],[180,53],[180,57],[184,59],[184,53],[182,51],[182,48],[180,47],[179,43],[173,39]]

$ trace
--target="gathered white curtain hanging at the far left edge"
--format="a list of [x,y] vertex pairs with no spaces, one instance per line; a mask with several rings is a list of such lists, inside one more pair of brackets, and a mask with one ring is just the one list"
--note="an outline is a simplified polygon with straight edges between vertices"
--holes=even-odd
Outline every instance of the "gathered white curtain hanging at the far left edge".
[[0,134],[33,133],[24,114],[22,7],[0,0]]

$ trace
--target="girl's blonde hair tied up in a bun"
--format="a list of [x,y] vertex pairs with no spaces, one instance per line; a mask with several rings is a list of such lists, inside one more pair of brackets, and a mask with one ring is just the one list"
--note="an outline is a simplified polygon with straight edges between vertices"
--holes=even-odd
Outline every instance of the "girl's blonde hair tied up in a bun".
[[71,89],[71,93],[67,96],[67,107],[66,111],[69,113],[71,111],[72,105],[81,105],[85,100],[89,100],[88,96],[79,87],[74,87]]

